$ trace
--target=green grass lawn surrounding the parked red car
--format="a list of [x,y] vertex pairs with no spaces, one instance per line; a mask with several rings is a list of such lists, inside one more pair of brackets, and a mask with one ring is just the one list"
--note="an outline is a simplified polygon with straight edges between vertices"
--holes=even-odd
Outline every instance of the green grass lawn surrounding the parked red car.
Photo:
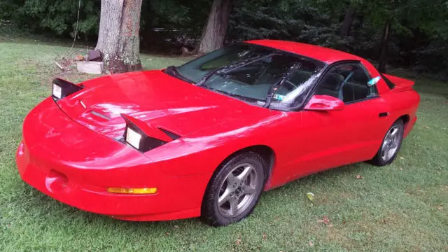
[[[419,120],[393,165],[359,163],[289,183],[225,228],[199,219],[134,223],[52,200],[15,167],[22,121],[49,96],[52,59],[68,50],[0,42],[0,251],[448,251],[448,83],[416,80]],[[186,60],[141,58],[146,69]],[[319,223],[323,216],[330,223]]]

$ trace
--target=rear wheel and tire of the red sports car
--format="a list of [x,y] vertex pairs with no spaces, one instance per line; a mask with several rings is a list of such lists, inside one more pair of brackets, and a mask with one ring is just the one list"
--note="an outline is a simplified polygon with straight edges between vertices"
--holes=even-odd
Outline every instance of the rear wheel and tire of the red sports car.
[[377,155],[370,162],[372,165],[384,166],[389,165],[398,155],[403,140],[405,125],[402,120],[397,120],[387,131],[383,143],[379,147]]

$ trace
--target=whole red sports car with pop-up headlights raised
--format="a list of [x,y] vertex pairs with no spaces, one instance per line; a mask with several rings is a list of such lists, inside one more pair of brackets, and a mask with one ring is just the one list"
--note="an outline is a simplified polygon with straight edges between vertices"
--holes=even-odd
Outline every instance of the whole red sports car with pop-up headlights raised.
[[160,71],[55,79],[25,118],[18,170],[85,211],[228,225],[262,191],[390,164],[416,122],[413,84],[345,52],[269,40]]

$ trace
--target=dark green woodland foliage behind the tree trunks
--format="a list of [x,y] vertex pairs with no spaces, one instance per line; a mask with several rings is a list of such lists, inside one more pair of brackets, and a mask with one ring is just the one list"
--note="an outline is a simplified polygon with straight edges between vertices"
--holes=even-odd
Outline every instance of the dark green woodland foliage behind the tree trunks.
[[[181,53],[193,49],[211,0],[144,1],[141,49]],[[340,36],[346,10],[355,9],[348,36]],[[99,0],[81,0],[78,38],[95,43]],[[1,20],[32,34],[73,38],[78,1],[2,0]],[[388,64],[448,78],[446,0],[244,0],[235,1],[226,43],[274,38],[313,43],[376,60],[386,20],[391,22]],[[3,22],[4,24],[4,22]]]

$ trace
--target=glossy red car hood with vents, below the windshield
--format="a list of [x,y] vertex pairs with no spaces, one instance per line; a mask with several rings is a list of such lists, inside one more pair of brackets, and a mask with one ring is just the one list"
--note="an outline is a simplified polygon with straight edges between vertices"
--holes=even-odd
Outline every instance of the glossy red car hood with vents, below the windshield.
[[67,116],[113,139],[123,136],[121,113],[183,137],[223,120],[251,115],[251,106],[197,87],[162,71],[122,73],[87,80],[85,88],[57,101]]

